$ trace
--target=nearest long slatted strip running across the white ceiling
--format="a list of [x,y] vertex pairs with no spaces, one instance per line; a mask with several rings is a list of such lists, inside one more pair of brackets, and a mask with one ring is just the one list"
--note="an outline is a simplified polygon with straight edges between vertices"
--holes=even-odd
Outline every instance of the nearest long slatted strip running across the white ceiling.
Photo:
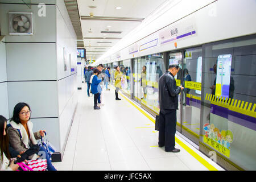
[[112,17],[112,16],[81,16],[81,20],[142,22],[144,18],[128,18],[128,17]]

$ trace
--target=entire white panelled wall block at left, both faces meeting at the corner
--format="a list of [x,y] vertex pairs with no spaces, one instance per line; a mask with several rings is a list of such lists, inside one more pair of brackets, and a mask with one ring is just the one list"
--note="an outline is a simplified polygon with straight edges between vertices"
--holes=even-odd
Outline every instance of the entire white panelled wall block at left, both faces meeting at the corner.
[[[16,4],[7,4],[13,2]],[[47,4],[45,17],[38,16],[40,2]],[[0,44],[0,80],[5,81],[0,81],[0,101],[6,102],[7,108],[4,111],[0,106],[0,111],[10,118],[18,102],[27,102],[34,131],[47,130],[56,152],[63,153],[77,105],[76,34],[63,0],[31,3],[35,5],[30,9],[22,1],[0,0],[1,32],[6,35],[6,43]],[[32,12],[34,35],[10,36],[10,11]],[[67,52],[67,71],[63,47]],[[6,57],[2,52],[6,52]]]

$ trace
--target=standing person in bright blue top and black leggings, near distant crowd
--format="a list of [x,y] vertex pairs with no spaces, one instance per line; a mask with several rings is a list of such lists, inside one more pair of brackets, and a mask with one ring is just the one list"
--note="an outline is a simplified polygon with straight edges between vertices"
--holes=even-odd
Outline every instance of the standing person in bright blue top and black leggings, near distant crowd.
[[102,80],[98,79],[98,75],[100,74],[100,71],[98,69],[94,69],[93,71],[93,75],[90,77],[90,83],[92,84],[92,93],[94,94],[94,109],[101,109],[100,107],[97,106],[97,100],[98,100],[98,96],[99,96],[99,92],[98,92],[98,85],[100,84],[100,82],[102,80],[104,80],[104,78],[102,78]]

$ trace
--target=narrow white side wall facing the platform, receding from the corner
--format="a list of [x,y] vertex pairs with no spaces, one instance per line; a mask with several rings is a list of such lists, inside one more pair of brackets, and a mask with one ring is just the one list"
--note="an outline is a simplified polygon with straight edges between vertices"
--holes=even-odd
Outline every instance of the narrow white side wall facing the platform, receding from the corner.
[[[64,49],[66,50],[67,71],[64,71]],[[59,99],[60,150],[71,129],[72,117],[77,106],[77,53],[76,34],[64,1],[56,1],[56,52],[57,85]]]

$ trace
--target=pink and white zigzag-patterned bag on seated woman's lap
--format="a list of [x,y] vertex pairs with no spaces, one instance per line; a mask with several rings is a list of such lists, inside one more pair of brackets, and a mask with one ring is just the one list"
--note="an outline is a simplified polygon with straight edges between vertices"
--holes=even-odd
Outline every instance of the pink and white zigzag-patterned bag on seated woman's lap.
[[38,160],[28,160],[27,164],[17,163],[23,171],[46,171],[47,160],[38,159]]

